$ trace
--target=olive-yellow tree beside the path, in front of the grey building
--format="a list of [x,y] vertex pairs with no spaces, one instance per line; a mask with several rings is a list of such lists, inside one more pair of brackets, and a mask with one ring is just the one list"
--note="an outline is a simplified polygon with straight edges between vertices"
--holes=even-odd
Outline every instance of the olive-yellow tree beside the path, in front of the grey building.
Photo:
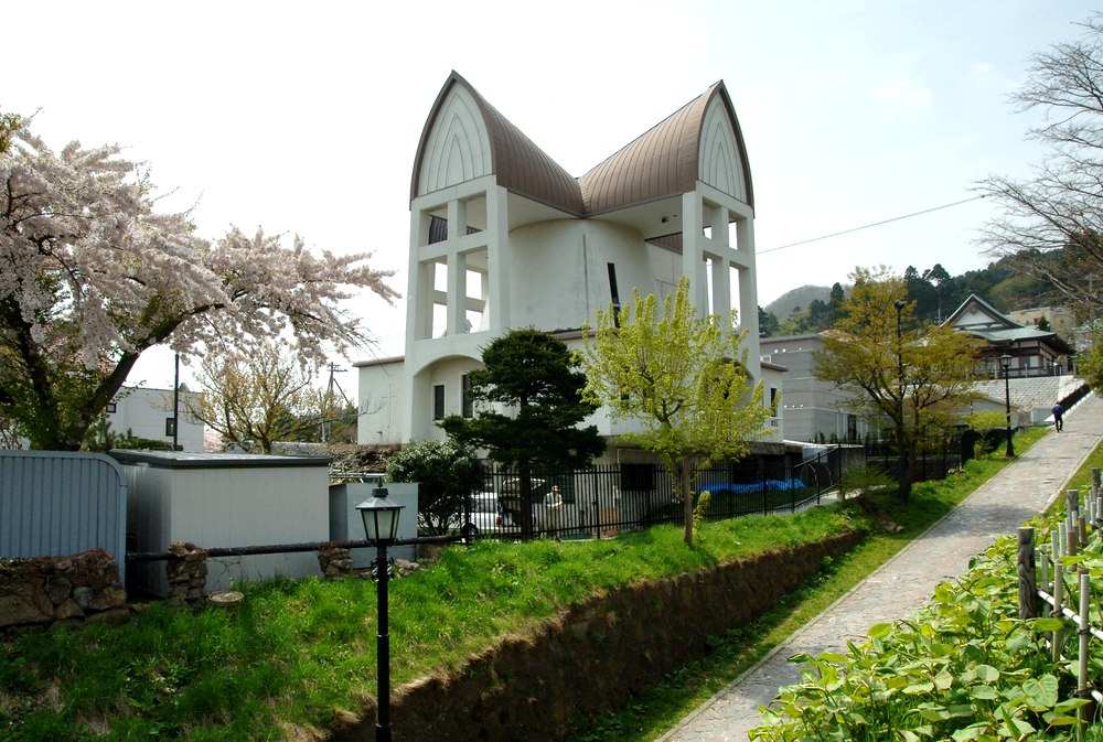
[[[907,281],[884,267],[859,268],[847,315],[814,355],[815,376],[852,395],[870,421],[888,420],[900,456],[900,498],[911,493],[911,461],[976,398],[978,341],[914,321]],[[897,302],[900,302],[899,309]]]

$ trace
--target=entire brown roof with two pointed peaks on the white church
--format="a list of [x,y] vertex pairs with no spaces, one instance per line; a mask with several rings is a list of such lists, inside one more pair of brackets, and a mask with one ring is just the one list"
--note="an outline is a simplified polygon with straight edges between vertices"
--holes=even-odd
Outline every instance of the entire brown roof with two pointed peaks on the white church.
[[414,163],[410,201],[418,195],[418,174],[426,155],[427,139],[453,85],[462,85],[479,107],[490,136],[491,168],[499,184],[513,193],[578,216],[601,214],[696,189],[705,114],[713,100],[719,98],[739,149],[747,203],[754,206],[747,148],[722,82],[714,84],[604,162],[575,179],[454,71],[437,96],[421,131]]

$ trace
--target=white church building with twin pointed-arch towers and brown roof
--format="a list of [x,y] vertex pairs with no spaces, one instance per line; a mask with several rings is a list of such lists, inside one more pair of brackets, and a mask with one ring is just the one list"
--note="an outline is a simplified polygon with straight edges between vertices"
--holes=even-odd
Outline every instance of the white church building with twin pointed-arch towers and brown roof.
[[[576,178],[453,72],[414,161],[408,275],[405,355],[355,364],[363,444],[443,439],[493,338],[533,326],[577,346],[598,309],[662,300],[682,276],[699,314],[738,310],[763,404],[781,389],[759,362],[754,193],[722,82]],[[588,422],[620,458],[625,423]],[[758,445],[780,452],[771,423]]]

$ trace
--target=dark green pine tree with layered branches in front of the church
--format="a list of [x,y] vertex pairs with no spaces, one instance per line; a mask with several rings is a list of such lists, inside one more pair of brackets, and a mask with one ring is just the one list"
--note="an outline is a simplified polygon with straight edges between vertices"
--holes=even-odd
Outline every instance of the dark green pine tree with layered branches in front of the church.
[[597,405],[580,396],[586,376],[566,343],[546,332],[513,330],[492,341],[482,361],[484,367],[471,372],[474,417],[451,415],[439,424],[458,443],[485,449],[492,460],[517,469],[521,530],[527,536],[533,464],[585,465],[606,450],[596,426],[578,427]]

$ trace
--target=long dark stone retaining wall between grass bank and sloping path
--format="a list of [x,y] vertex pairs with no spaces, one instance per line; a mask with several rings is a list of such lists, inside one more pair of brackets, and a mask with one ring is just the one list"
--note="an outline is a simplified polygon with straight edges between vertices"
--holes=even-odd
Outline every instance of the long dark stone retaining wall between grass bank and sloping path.
[[[641,581],[504,639],[460,669],[398,688],[398,742],[561,740],[708,652],[708,637],[763,615],[865,534],[779,549],[672,580]],[[392,637],[395,641],[395,637]],[[368,739],[376,709],[335,741]]]

